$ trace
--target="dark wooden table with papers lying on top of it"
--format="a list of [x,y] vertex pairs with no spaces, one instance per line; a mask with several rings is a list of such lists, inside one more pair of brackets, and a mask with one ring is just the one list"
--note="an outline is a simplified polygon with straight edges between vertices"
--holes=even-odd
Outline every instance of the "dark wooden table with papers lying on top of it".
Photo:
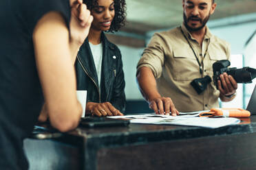
[[30,169],[256,169],[256,116],[216,129],[130,124],[52,137],[25,140]]

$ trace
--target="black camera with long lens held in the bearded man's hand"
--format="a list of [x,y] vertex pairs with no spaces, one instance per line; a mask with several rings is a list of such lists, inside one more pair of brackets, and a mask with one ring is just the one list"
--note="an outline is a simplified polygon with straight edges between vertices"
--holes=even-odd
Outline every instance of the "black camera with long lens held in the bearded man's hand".
[[231,62],[228,60],[220,60],[213,63],[213,82],[217,87],[217,80],[220,80],[220,75],[226,72],[228,75],[232,75],[237,83],[251,83],[256,77],[256,69],[248,66],[237,69],[236,67],[228,68]]

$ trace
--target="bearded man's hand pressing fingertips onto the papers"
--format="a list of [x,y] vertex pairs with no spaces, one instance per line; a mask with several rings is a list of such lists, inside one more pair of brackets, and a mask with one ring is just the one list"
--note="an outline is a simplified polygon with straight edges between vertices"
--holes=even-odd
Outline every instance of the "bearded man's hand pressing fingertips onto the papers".
[[170,112],[171,116],[179,114],[170,97],[157,97],[149,100],[149,108],[153,109],[156,114],[170,115]]

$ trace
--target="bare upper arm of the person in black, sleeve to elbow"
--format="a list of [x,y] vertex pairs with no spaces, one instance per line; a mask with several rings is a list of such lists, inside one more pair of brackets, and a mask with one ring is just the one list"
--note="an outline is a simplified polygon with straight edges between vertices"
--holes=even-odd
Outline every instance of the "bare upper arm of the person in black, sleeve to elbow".
[[45,14],[34,29],[33,42],[50,122],[61,132],[72,130],[82,108],[76,99],[70,33],[61,14]]

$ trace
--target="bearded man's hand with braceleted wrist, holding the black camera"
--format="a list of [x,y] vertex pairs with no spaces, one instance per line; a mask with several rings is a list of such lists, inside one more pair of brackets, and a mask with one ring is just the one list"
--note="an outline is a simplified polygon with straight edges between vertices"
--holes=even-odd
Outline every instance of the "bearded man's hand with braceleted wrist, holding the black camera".
[[220,75],[220,80],[217,80],[217,87],[220,90],[220,99],[222,101],[231,101],[236,94],[237,82],[227,73]]

